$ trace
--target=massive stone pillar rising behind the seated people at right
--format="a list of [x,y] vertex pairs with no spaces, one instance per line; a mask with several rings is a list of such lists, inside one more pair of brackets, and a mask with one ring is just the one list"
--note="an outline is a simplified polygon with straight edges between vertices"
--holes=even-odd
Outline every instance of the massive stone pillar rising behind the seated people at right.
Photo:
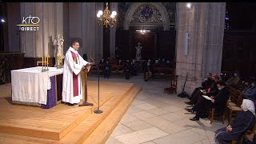
[[[182,91],[186,74],[185,91],[191,94],[201,86],[206,73],[220,74],[225,24],[225,2],[178,3],[177,63],[178,93]],[[185,34],[189,34],[188,54],[185,55]]]

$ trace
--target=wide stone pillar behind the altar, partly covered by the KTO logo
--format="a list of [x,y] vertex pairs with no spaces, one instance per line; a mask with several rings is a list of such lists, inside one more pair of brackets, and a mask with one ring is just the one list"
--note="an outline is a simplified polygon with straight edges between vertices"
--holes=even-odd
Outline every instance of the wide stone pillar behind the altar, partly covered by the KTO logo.
[[22,31],[22,52],[26,57],[54,56],[52,40],[54,34],[63,34],[62,2],[22,2],[21,19],[26,16],[40,18],[38,31]]

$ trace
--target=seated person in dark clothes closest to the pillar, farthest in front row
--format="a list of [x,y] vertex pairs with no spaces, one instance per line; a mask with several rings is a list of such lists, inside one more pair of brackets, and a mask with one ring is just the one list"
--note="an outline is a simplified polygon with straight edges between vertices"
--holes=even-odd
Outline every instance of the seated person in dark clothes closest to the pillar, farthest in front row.
[[[213,83],[211,77],[212,77],[212,74],[207,73],[206,78],[202,81],[201,87],[195,88],[191,96],[188,98],[191,100],[194,97],[194,94],[196,94],[199,90],[207,90],[210,87],[210,85]],[[189,102],[185,102],[185,103],[189,103]]]

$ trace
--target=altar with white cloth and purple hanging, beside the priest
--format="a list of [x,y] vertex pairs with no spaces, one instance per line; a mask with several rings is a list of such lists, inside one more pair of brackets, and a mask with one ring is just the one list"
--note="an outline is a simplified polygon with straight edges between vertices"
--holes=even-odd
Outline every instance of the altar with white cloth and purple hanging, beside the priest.
[[37,66],[11,70],[12,102],[34,103],[41,105],[42,109],[50,109],[61,102],[63,68],[48,69],[42,72],[42,66]]

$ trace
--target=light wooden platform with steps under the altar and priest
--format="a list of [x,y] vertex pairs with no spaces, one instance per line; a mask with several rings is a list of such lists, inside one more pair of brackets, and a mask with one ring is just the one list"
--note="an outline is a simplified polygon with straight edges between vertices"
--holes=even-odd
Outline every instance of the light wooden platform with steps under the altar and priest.
[[88,102],[94,106],[51,109],[11,104],[10,84],[0,86],[0,143],[102,143],[118,125],[141,88],[133,83],[88,82]]

